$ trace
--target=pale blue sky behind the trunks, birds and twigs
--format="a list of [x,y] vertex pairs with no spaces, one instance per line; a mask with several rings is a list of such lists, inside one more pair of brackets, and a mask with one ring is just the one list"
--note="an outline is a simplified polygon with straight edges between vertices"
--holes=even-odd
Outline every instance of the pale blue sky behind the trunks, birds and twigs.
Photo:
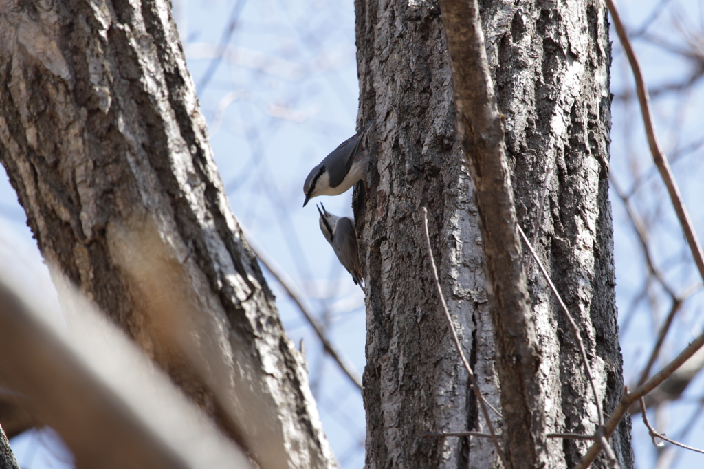
[[[173,4],[232,210],[261,249],[306,294],[308,306],[325,323],[329,337],[361,373],[365,365],[363,294],[325,242],[314,204],[302,207],[303,181],[310,169],[356,130],[353,1],[174,0]],[[696,78],[701,75],[698,62],[692,54],[683,54],[699,47],[704,56],[704,41],[698,39],[704,37],[701,2],[629,0],[621,1],[620,8],[636,36],[634,44],[648,85],[655,91],[660,141],[674,159],[674,173],[702,239],[704,89]],[[673,289],[684,292],[700,279],[662,182],[653,171],[640,111],[634,104],[631,72],[615,32],[611,37],[612,177],[624,192],[636,187],[630,200],[648,227],[650,255]],[[693,85],[682,86],[690,77],[696,78]],[[641,183],[636,185],[637,181]],[[633,382],[670,299],[657,282],[648,280],[643,251],[624,204],[613,190],[611,199],[624,374],[627,382]],[[351,191],[313,202],[318,201],[332,213],[352,216]],[[4,170],[0,170],[0,262],[15,263],[28,281],[54,294]],[[322,353],[320,342],[277,281],[265,275],[289,337],[306,344],[311,387],[341,467],[363,467],[365,418],[358,389]],[[665,343],[666,357],[677,354],[700,332],[703,296],[689,299],[678,315]],[[671,437],[677,436],[700,413],[703,396],[704,380],[698,378],[685,399],[662,408],[651,420],[657,420],[660,430]],[[696,420],[684,439],[704,446],[703,430],[704,422]],[[655,468],[656,450],[640,420],[634,420],[633,437],[638,467]],[[23,469],[73,467],[70,454],[49,429],[27,432],[12,444]],[[704,467],[703,455],[684,450],[669,454],[674,465],[660,467]]]

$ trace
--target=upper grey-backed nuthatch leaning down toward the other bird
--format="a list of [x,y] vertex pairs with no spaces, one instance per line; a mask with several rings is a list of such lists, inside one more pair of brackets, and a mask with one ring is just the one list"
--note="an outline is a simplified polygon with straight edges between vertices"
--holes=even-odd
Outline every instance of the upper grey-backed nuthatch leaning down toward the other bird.
[[366,179],[369,152],[364,137],[372,127],[374,119],[362,130],[342,142],[330,152],[306,177],[303,193],[306,194],[305,207],[310,199],[319,195],[339,195],[346,192],[356,182]]

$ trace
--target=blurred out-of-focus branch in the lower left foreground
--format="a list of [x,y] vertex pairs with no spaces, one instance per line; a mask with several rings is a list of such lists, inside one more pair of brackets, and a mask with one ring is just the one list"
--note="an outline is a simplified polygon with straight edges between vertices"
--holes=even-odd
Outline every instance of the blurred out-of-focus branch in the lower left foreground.
[[[71,287],[68,327],[0,272],[0,379],[78,467],[251,468],[249,459]],[[58,274],[54,275],[57,278]]]

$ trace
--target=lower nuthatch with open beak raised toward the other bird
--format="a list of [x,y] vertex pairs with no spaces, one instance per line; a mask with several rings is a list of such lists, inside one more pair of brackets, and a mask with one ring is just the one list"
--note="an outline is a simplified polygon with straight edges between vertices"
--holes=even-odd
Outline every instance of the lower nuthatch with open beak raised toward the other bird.
[[[359,263],[359,248],[357,246],[357,230],[354,227],[354,221],[348,217],[339,217],[325,210],[325,206],[320,204],[318,213],[320,213],[320,231],[325,236],[327,242],[335,251],[337,259],[347,269],[347,272],[352,275],[352,280],[356,285],[365,292],[362,285],[364,277],[362,275],[362,267]],[[322,210],[320,208],[322,207]]]

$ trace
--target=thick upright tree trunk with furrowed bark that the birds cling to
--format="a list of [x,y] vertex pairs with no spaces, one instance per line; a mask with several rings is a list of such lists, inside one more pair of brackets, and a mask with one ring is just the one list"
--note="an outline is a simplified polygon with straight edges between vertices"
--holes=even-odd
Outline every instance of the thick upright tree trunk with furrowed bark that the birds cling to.
[[[608,201],[610,45],[598,1],[480,1],[494,89],[505,115],[518,222],[582,331],[605,413],[623,388]],[[362,121],[376,117],[374,170],[356,218],[367,287],[367,466],[490,468],[486,431],[434,292],[419,209],[427,206],[448,306],[482,393],[500,406],[477,206],[455,142],[451,70],[435,1],[357,0]],[[541,220],[539,204],[547,177]],[[527,252],[527,249],[524,249]],[[546,433],[591,433],[598,418],[579,349],[535,263],[529,293],[541,346]],[[492,414],[499,430],[501,418]],[[611,443],[633,465],[630,422]],[[550,468],[590,442],[548,439]],[[598,467],[605,461],[598,460]]]

